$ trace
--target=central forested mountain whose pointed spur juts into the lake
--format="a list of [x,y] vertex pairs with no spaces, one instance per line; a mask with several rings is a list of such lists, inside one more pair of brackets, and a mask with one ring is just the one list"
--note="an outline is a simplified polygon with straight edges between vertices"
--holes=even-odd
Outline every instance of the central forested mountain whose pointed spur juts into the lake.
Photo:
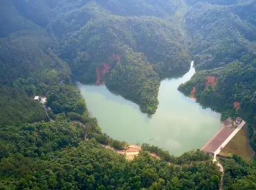
[[123,14],[110,4],[114,6],[110,2],[85,2],[81,8],[63,11],[50,23],[60,43],[60,57],[70,63],[79,81],[106,83],[138,103],[142,112],[153,114],[160,79],[189,69],[185,37],[171,23],[155,17],[166,8],[162,2],[158,3],[162,10],[154,16],[146,10],[141,15],[136,13],[133,6],[143,7],[143,1],[139,5],[117,3],[118,7],[130,7],[124,8],[127,13]]

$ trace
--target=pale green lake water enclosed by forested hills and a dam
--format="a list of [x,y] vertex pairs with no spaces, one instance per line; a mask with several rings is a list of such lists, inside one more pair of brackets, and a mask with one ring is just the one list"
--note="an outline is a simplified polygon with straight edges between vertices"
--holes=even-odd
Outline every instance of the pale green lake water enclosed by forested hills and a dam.
[[105,86],[79,84],[91,116],[102,132],[129,143],[149,143],[173,155],[200,149],[220,129],[220,114],[203,109],[177,90],[195,74],[193,62],[181,78],[165,79],[159,88],[159,105],[150,118],[139,106],[111,93]]

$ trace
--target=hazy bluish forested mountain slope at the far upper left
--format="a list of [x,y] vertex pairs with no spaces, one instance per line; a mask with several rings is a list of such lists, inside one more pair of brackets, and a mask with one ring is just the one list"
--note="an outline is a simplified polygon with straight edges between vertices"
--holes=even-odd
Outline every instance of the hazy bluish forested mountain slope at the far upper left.
[[52,52],[51,37],[45,29],[24,17],[10,1],[3,0],[0,9],[0,84],[33,74],[40,77],[40,72],[52,68],[69,75],[67,64]]

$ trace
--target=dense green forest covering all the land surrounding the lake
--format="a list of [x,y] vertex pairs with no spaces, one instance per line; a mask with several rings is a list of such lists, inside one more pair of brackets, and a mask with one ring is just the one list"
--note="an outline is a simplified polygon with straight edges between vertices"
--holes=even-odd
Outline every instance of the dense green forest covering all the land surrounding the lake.
[[[174,157],[143,144],[127,161],[105,149],[127,144],[101,132],[75,82],[154,114],[160,81],[194,59],[179,90],[195,88],[222,118],[242,116],[256,150],[255,31],[255,0],[2,0],[0,189],[218,189],[221,173],[200,150]],[[221,163],[223,189],[256,188],[255,158]]]

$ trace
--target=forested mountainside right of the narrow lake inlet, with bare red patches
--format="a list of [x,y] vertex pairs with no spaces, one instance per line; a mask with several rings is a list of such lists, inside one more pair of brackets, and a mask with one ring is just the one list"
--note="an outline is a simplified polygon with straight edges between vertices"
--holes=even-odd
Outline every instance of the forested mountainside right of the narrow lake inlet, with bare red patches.
[[[191,51],[199,71],[179,89],[227,116],[242,116],[255,129],[256,2],[198,2],[186,14]],[[219,4],[219,5],[216,5]],[[214,69],[215,68],[215,69]],[[255,136],[251,143],[256,148]]]

